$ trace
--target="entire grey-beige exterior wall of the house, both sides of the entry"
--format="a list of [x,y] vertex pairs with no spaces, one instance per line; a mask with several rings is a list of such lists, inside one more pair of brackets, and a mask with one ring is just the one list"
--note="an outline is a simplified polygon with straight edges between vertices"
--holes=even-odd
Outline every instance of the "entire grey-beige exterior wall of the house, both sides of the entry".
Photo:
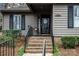
[[[78,36],[78,27],[68,28],[68,5],[53,4],[52,8],[53,36]],[[9,14],[4,14],[3,30],[9,30],[9,17]],[[22,30],[23,35],[26,35],[28,31],[28,25],[31,25],[33,28],[37,27],[37,16],[34,14],[26,14],[25,30]]]

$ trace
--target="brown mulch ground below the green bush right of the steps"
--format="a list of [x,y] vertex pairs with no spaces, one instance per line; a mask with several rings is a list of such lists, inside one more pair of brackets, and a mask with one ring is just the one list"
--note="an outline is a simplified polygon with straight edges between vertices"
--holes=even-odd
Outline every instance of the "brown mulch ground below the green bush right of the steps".
[[79,56],[79,46],[75,49],[64,49],[63,46],[59,47],[62,56]]

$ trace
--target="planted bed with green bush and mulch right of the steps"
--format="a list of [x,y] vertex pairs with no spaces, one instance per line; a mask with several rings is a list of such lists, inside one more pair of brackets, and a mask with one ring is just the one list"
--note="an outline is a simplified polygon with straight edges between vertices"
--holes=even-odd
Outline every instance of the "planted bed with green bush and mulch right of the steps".
[[[79,39],[78,38],[79,37],[63,37],[58,41],[56,40],[55,44],[58,45],[57,54],[59,56],[79,56]],[[61,41],[61,44],[60,44],[60,41]]]

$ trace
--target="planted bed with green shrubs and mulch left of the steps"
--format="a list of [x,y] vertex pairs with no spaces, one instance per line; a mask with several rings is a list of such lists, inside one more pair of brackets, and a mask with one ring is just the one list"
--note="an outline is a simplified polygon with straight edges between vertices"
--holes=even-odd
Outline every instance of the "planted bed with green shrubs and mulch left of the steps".
[[[4,30],[0,36],[0,55],[11,56],[22,55],[24,53],[24,36],[19,36],[20,30]],[[7,42],[7,43],[6,43]],[[13,52],[14,51],[14,52]]]

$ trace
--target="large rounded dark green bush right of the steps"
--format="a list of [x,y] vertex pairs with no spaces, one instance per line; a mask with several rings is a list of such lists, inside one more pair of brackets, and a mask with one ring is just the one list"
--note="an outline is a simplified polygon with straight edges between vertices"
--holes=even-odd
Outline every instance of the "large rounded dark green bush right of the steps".
[[64,48],[75,48],[76,37],[66,36],[61,38]]

